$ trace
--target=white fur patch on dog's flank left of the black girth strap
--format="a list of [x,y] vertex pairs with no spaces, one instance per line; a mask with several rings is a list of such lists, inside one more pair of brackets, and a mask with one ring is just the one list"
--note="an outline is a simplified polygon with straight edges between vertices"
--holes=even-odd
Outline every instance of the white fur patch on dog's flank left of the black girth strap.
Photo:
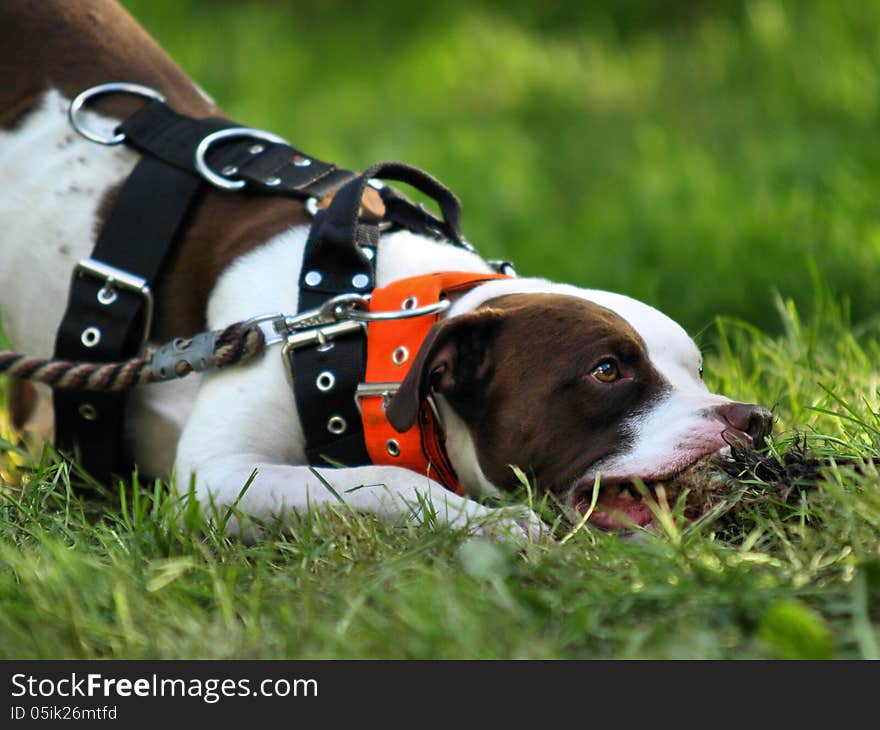
[[[73,267],[94,246],[101,197],[137,159],[124,146],[80,137],[68,104],[49,91],[17,129],[0,130],[0,314],[16,346],[40,357],[52,354]],[[88,111],[82,119],[112,126]]]

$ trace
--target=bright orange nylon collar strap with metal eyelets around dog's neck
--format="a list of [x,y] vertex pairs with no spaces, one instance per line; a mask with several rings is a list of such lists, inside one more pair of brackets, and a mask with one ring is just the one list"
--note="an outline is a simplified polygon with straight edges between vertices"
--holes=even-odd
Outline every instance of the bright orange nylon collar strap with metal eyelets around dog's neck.
[[[401,310],[404,309],[404,302],[407,302],[408,309],[424,307],[453,292],[472,289],[492,279],[507,278],[504,274],[449,271],[400,279],[373,290],[370,310]],[[367,325],[365,382],[400,383],[409,372],[428,330],[439,317],[439,314],[427,314],[411,319],[370,322]],[[412,469],[419,474],[430,475],[457,494],[462,493],[455,470],[446,456],[443,429],[437,423],[430,404],[422,404],[419,427],[413,427],[406,433],[397,433],[388,423],[382,395],[361,397],[360,404],[367,451],[374,464]]]

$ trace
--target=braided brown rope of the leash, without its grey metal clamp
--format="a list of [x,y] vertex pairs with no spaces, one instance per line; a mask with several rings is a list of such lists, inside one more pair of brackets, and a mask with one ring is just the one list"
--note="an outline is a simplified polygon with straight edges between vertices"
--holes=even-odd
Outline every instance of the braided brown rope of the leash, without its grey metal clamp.
[[[257,325],[237,322],[217,335],[213,367],[244,364],[259,355],[264,347],[265,338]],[[118,392],[164,380],[153,372],[151,359],[152,353],[148,357],[123,362],[70,362],[0,350],[0,373],[20,380],[44,383],[56,390]],[[192,365],[181,361],[175,373],[183,377],[192,370]]]

